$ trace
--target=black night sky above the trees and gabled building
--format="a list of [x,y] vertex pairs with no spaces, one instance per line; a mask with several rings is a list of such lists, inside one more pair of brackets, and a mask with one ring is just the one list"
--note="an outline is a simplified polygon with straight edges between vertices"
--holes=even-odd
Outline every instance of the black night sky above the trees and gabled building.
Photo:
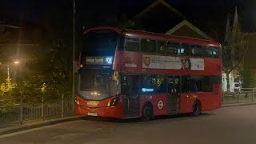
[[[97,14],[102,19],[116,21],[115,15],[125,13],[128,18],[138,14],[154,0],[77,0],[77,20],[78,26],[86,26],[87,18],[91,14]],[[166,0],[174,6],[186,19],[195,26],[208,32],[209,29],[223,31],[226,25],[226,17],[229,16],[232,22],[234,7],[238,6],[239,18],[242,31],[256,31],[256,1],[255,0]],[[66,6],[70,10],[70,1],[41,0],[2,0],[0,6],[0,22],[7,24],[26,26],[28,23],[40,23],[50,6]],[[94,25],[94,22],[92,24]],[[207,25],[207,26],[206,26]],[[220,34],[223,35],[223,34]]]

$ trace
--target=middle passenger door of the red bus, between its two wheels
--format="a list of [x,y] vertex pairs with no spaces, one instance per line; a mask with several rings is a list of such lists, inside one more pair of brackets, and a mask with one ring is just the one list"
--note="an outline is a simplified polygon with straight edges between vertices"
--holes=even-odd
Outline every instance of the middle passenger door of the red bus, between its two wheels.
[[167,76],[167,114],[179,113],[180,77]]

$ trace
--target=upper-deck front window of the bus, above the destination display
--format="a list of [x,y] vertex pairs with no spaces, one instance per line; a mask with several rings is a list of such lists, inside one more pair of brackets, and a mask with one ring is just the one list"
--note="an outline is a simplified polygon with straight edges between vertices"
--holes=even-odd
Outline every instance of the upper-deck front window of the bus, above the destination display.
[[87,56],[111,56],[118,43],[114,30],[91,30],[84,36],[84,52]]

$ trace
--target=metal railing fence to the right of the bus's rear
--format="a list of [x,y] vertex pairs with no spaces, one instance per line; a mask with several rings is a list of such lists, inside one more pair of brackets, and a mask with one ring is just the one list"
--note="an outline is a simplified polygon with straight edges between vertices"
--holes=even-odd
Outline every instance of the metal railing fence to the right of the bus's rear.
[[256,102],[254,98],[256,95],[256,88],[241,88],[237,90],[223,90],[222,91],[222,103],[234,104],[234,103],[247,103]]

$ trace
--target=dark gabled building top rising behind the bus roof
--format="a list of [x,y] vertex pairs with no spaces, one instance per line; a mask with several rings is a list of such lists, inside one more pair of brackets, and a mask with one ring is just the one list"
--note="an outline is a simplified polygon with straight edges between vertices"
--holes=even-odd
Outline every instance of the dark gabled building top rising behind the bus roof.
[[182,37],[212,39],[164,0],[153,2],[130,21],[129,24],[133,25],[132,28]]

